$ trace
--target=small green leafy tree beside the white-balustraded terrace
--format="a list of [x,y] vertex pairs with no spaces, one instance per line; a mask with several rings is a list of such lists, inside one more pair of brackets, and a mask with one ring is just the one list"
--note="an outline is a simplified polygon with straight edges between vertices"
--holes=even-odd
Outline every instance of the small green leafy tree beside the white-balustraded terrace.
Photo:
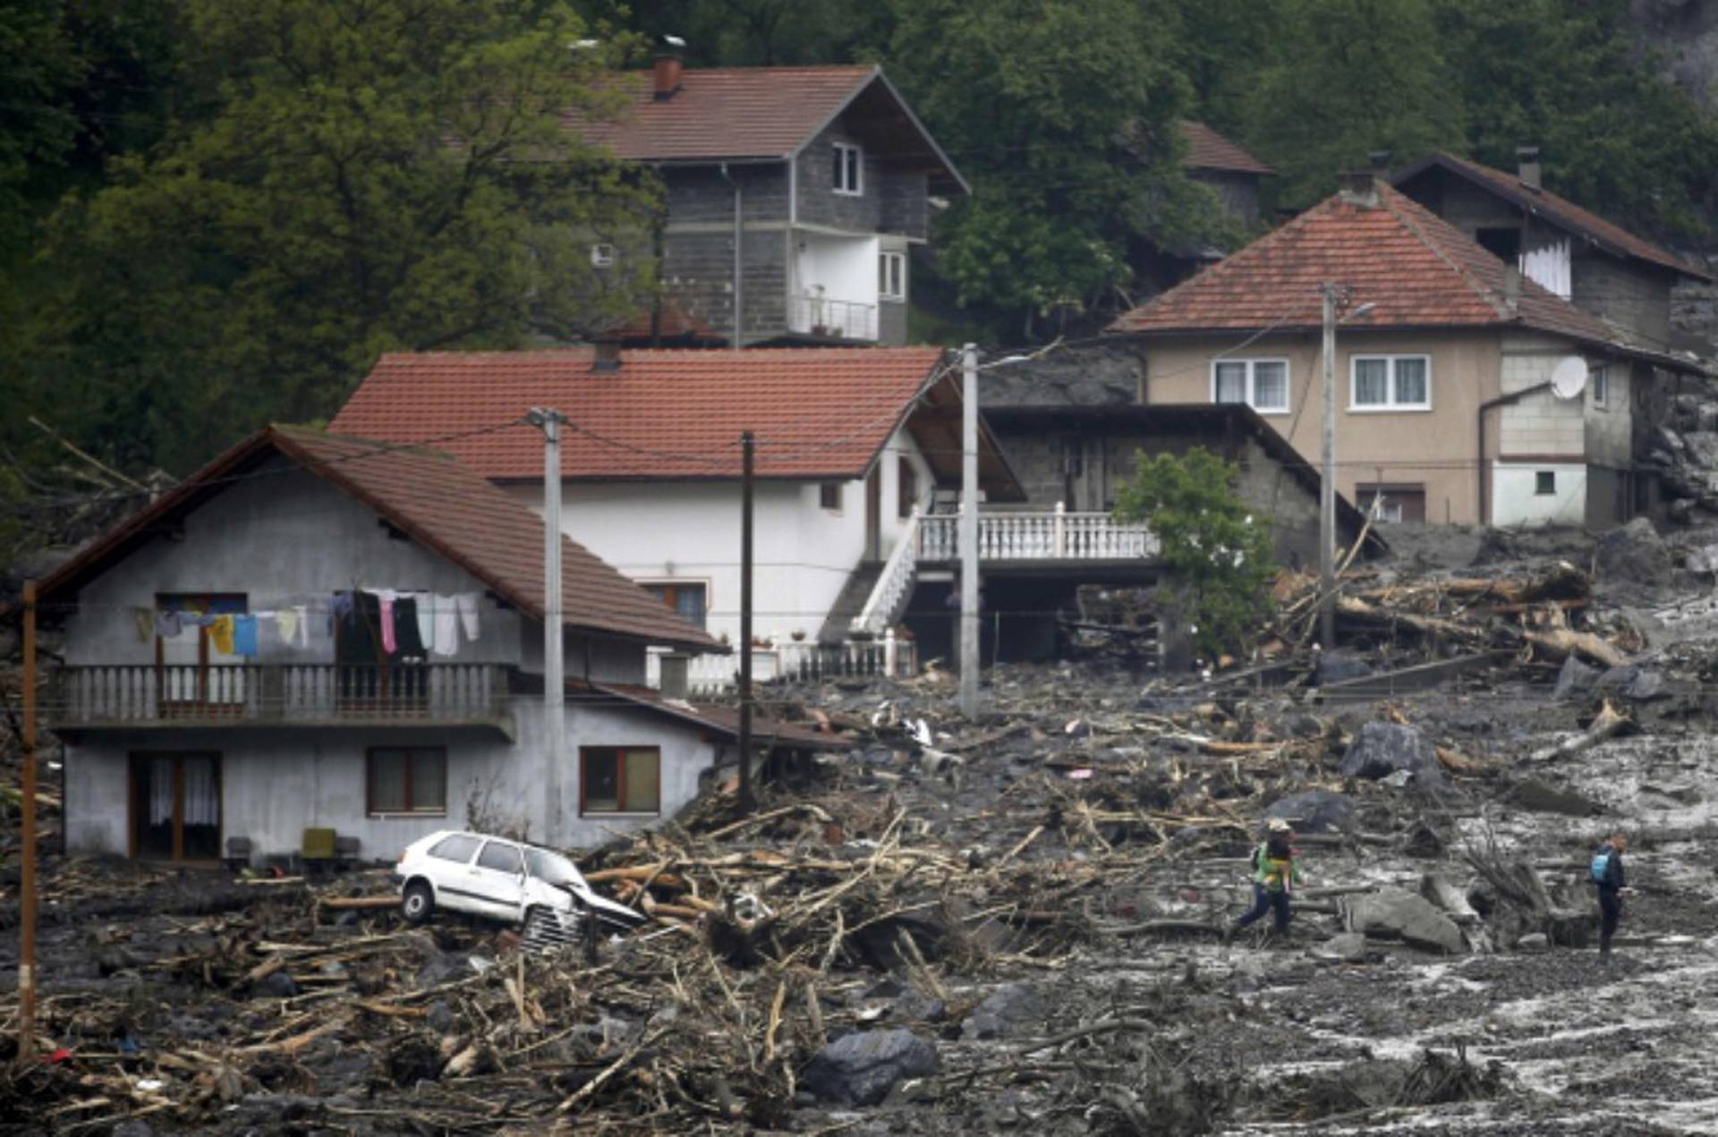
[[1163,546],[1175,586],[1192,598],[1199,649],[1237,653],[1270,603],[1270,526],[1234,489],[1240,471],[1204,447],[1148,457],[1115,502],[1117,520],[1142,520]]

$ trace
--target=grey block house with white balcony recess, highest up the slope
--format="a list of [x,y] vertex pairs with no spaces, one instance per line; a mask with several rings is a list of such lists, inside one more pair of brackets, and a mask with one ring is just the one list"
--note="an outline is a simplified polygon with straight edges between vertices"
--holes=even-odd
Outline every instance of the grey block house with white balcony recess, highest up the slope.
[[[622,84],[617,120],[567,127],[667,189],[663,299],[629,342],[907,342],[909,252],[929,237],[931,198],[969,191],[880,67],[691,69],[661,55]],[[627,254],[591,251],[598,266]]]

